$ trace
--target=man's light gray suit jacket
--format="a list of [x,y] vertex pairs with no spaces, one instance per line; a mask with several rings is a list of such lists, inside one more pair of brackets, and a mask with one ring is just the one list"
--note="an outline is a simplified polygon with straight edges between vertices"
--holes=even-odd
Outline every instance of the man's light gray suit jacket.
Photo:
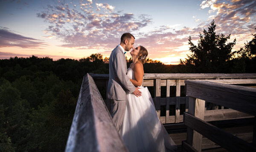
[[[126,74],[127,63],[125,54],[119,46],[116,46],[109,57],[108,99],[126,100],[126,91],[128,93],[134,92],[136,88]],[[120,82],[117,82],[115,77],[118,77]]]

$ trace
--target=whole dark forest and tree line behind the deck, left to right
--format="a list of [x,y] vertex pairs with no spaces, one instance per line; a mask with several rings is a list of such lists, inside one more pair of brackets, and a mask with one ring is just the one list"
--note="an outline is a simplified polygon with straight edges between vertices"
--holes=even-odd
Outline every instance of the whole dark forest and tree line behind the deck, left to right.
[[[189,37],[192,54],[180,65],[147,59],[144,72],[256,72],[256,34],[231,52],[236,40],[227,42],[230,35],[216,34],[215,27],[213,21],[200,33],[197,46]],[[127,62],[129,66],[131,58]],[[0,60],[0,152],[64,151],[86,73],[107,74],[108,58],[91,54],[80,60],[35,56]]]

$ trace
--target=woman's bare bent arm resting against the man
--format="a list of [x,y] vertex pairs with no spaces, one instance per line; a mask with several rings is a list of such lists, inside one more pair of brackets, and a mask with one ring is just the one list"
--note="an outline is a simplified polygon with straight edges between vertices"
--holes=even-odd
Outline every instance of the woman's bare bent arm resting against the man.
[[134,86],[141,86],[143,82],[143,75],[144,75],[143,64],[136,63],[134,65],[133,71],[134,71],[135,80],[130,79],[131,83]]

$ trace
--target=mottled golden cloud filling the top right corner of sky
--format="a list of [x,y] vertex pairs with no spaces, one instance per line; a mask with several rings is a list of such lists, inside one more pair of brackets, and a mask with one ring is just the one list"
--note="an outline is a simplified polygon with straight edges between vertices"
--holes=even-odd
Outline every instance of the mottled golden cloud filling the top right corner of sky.
[[[254,0],[204,0],[201,8],[210,8],[209,12],[215,15],[209,16],[218,24],[218,31],[222,33],[244,34],[253,32],[250,25],[255,23],[256,1]],[[209,22],[207,20],[207,23]]]

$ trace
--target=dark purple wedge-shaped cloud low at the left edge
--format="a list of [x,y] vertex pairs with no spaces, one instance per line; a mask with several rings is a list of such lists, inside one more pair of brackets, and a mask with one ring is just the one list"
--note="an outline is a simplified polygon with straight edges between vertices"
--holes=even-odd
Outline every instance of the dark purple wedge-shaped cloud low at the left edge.
[[15,34],[6,28],[0,29],[0,47],[39,48],[42,46],[47,44],[41,40]]

